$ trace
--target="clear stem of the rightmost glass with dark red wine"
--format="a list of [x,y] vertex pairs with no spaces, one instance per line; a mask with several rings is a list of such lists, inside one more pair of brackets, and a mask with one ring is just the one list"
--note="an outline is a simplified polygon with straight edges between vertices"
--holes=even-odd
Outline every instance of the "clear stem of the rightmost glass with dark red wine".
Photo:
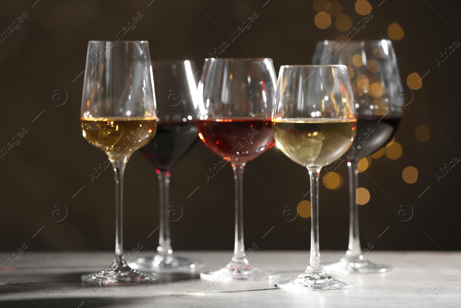
[[359,187],[359,162],[352,160],[349,163],[349,248],[345,258],[350,260],[358,258],[361,260],[359,205],[356,200],[356,192]]

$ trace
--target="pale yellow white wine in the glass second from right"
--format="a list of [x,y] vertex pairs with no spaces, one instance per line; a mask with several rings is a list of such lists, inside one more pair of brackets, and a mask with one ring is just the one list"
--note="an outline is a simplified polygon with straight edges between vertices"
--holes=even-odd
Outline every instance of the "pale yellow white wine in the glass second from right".
[[325,166],[352,145],[357,121],[337,118],[272,119],[277,146],[303,166]]

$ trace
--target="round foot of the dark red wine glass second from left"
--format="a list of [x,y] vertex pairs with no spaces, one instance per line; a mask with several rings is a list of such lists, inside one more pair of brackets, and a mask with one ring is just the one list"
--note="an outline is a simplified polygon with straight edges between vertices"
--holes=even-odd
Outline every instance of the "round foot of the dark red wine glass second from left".
[[131,268],[144,272],[195,272],[203,262],[175,255],[155,255],[128,261]]

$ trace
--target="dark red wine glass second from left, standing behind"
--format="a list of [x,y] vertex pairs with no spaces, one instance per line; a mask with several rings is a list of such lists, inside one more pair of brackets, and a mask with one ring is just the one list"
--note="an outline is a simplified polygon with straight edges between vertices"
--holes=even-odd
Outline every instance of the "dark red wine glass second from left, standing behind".
[[155,97],[157,102],[157,133],[141,148],[152,163],[160,185],[160,236],[157,253],[152,257],[128,262],[132,268],[155,272],[194,272],[201,261],[173,254],[170,221],[182,216],[182,207],[170,205],[171,169],[199,139],[195,108],[197,84],[194,63],[189,60],[154,60]]

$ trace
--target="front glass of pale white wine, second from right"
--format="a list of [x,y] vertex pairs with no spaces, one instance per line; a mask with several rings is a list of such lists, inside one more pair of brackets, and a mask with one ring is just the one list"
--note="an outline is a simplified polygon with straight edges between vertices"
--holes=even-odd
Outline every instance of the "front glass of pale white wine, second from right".
[[304,274],[277,284],[286,289],[349,289],[353,284],[325,273],[319,251],[319,174],[341,157],[355,136],[354,96],[344,65],[282,66],[272,113],[275,142],[307,167],[311,193],[311,256]]

